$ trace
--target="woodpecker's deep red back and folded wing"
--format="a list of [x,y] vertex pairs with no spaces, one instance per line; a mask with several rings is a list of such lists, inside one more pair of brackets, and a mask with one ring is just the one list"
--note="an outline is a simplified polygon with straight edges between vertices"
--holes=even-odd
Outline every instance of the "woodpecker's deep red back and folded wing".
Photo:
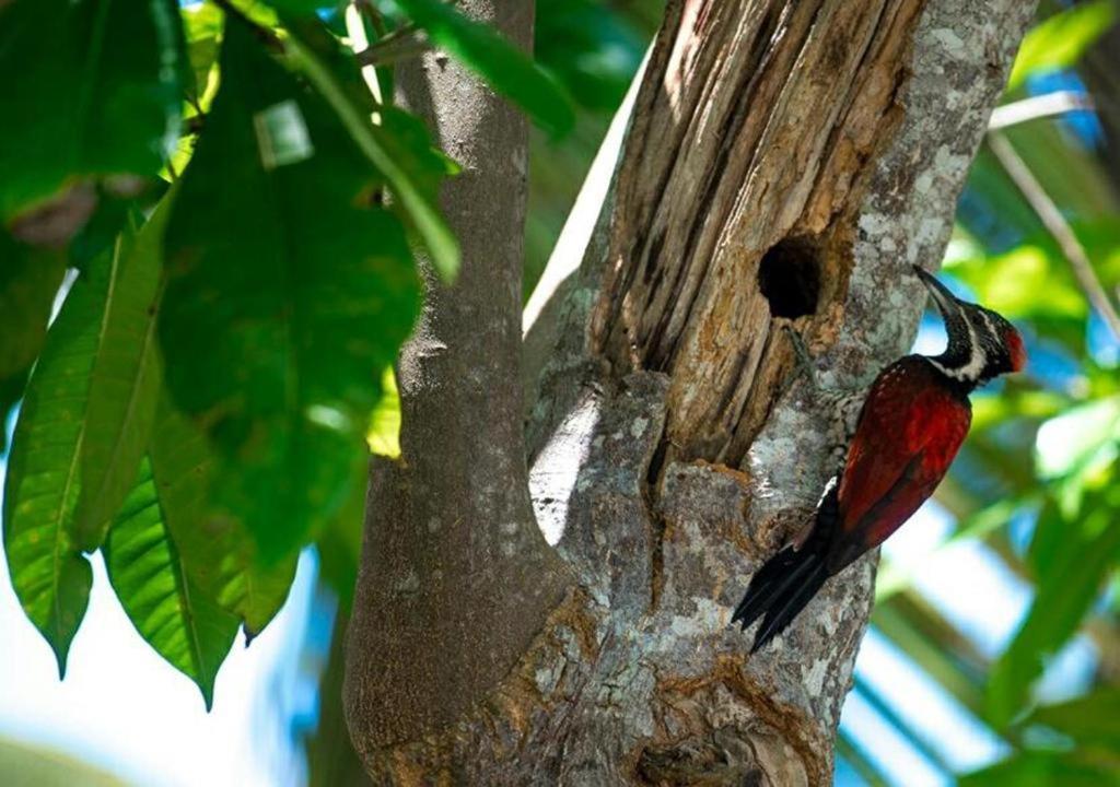
[[837,537],[849,547],[841,552],[883,543],[921,507],[944,477],[971,421],[968,397],[922,356],[906,356],[879,374],[840,480]]

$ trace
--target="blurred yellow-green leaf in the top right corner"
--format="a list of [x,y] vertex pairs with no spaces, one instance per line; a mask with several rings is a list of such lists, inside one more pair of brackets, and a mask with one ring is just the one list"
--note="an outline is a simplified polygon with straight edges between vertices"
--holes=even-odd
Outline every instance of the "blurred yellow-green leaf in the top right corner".
[[1067,68],[1116,24],[1113,0],[1077,3],[1028,32],[1019,46],[1007,90],[1019,87],[1034,72]]

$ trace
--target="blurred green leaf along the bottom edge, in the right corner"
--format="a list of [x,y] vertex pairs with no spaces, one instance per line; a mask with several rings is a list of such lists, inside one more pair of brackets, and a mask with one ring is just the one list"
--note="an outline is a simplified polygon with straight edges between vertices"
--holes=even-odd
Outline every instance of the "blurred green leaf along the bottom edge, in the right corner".
[[959,787],[1109,787],[1120,785],[1120,771],[1076,751],[1020,751],[993,766],[964,774],[956,784]]

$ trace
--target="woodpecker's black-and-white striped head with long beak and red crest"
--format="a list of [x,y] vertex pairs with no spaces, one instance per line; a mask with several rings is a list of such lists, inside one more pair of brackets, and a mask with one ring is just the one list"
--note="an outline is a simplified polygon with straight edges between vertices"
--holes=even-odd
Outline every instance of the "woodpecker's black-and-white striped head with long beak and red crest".
[[945,352],[930,363],[968,390],[1023,369],[1027,353],[1015,326],[991,309],[962,301],[917,265],[914,270],[937,305],[949,335]]

